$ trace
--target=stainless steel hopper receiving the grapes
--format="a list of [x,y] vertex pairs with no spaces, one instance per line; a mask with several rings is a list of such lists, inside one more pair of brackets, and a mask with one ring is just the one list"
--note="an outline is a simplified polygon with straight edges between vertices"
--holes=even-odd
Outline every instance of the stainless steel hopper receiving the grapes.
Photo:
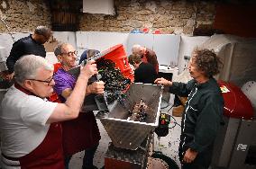
[[[124,103],[115,102],[110,112],[99,117],[114,147],[136,150],[159,125],[162,87],[155,84],[131,84]],[[127,120],[133,105],[143,100],[148,105],[145,122]]]

